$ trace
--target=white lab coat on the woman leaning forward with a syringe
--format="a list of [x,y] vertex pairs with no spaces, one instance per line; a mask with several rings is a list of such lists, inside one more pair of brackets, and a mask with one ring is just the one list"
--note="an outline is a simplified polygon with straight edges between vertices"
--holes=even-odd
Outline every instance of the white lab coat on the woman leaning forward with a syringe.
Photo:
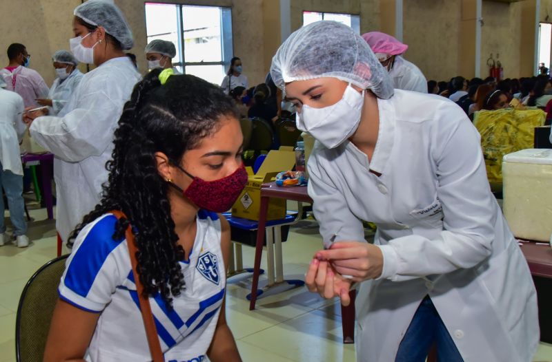
[[[395,90],[377,100],[373,158],[316,142],[308,193],[324,241],[364,240],[375,222],[384,267],[357,295],[357,360],[395,361],[425,295],[466,362],[531,361],[537,298],[486,178],[480,135],[446,98]],[[380,177],[371,173],[381,173]]]

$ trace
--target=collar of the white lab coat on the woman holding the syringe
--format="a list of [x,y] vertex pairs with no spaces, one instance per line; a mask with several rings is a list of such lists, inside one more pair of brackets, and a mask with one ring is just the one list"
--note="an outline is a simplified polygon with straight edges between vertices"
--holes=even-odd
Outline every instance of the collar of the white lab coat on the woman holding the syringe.
[[387,160],[391,156],[395,140],[395,108],[393,107],[393,97],[387,100],[377,98],[377,108],[380,113],[380,127],[377,132],[377,141],[372,160],[368,162],[366,153],[360,151],[351,141],[347,141],[346,148],[353,153],[360,164],[363,164],[372,171],[383,174]]

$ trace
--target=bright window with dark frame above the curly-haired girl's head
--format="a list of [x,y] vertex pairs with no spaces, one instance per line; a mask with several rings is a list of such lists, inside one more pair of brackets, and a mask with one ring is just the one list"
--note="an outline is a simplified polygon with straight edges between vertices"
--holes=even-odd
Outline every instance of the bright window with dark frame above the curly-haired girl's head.
[[146,3],[148,43],[172,41],[177,54],[172,59],[179,72],[220,84],[233,56],[230,8]]

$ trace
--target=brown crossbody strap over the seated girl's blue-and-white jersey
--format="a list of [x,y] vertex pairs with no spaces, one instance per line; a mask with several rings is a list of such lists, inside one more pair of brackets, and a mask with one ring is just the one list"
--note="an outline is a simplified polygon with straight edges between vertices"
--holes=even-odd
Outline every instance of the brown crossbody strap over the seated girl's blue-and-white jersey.
[[[127,218],[122,211],[111,211],[117,219],[121,217]],[[128,225],[125,233],[126,244],[128,245],[128,253],[130,255],[130,264],[132,264],[132,275],[134,275],[134,281],[136,284],[136,292],[138,293],[138,300],[140,302],[140,310],[142,313],[142,319],[144,320],[144,327],[146,328],[146,336],[148,337],[148,345],[150,346],[150,354],[153,362],[164,362],[165,357],[161,351],[161,344],[159,343],[159,337],[157,337],[157,328],[155,328],[155,321],[153,320],[153,314],[151,312],[150,299],[144,297],[144,286],[141,284],[140,277],[136,270],[136,243],[134,234],[132,234],[132,226]]]

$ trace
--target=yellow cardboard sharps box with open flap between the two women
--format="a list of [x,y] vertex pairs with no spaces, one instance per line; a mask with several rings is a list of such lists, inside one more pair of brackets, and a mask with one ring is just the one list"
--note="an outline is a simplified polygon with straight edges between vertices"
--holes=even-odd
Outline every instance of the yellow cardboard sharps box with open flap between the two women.
[[[253,174],[250,167],[246,167],[249,175],[244,191],[239,195],[232,206],[232,216],[243,217],[247,220],[259,220],[259,209],[261,206],[261,185],[274,181],[277,173],[288,171],[295,164],[295,153],[293,149],[271,150],[259,168]],[[286,216],[286,200],[271,198],[268,202],[266,220],[283,219]]]

